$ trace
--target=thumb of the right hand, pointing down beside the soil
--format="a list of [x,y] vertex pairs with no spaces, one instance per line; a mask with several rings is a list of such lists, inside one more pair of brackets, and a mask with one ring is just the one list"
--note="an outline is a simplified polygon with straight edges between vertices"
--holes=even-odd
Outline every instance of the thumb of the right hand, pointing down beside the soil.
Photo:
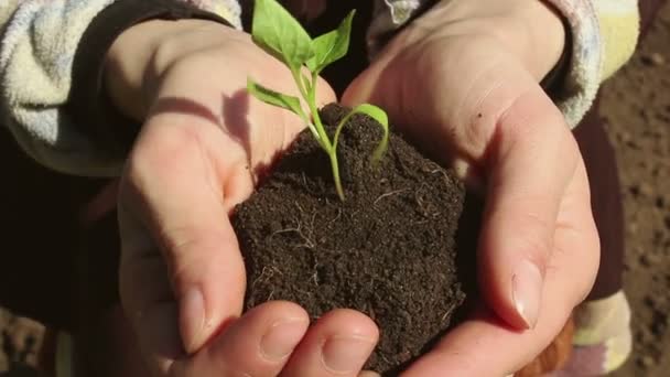
[[522,93],[500,112],[489,146],[478,258],[488,303],[511,325],[530,328],[540,316],[556,217],[579,151],[544,93],[537,85]]

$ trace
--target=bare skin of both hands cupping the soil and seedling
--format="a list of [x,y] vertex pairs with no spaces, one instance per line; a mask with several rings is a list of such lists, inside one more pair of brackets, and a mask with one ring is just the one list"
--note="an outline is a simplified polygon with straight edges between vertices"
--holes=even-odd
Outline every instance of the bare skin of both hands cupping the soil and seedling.
[[[584,166],[538,85],[563,40],[537,0],[444,2],[397,35],[343,98],[422,125],[409,131],[486,200],[486,301],[408,376],[514,373],[593,283]],[[106,75],[117,107],[143,125],[118,208],[121,301],[144,364],[155,376],[356,376],[378,338],[364,314],[336,310],[309,330],[293,303],[241,315],[245,269],[228,215],[303,128],[246,94],[246,79],[293,93],[285,68],[242,32],[150,21],[117,40]],[[320,88],[320,104],[335,100],[325,82]]]

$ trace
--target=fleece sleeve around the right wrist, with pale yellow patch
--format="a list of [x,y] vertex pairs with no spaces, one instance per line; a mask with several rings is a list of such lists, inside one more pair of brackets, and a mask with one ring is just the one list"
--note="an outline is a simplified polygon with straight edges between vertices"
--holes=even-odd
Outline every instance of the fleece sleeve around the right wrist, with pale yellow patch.
[[[449,0],[442,0],[449,1]],[[539,0],[540,1],[540,0]],[[573,128],[593,105],[603,80],[633,55],[639,35],[638,0],[542,0],[563,17],[570,49],[551,74],[551,96]],[[436,1],[376,0],[368,30],[370,55],[388,35]]]

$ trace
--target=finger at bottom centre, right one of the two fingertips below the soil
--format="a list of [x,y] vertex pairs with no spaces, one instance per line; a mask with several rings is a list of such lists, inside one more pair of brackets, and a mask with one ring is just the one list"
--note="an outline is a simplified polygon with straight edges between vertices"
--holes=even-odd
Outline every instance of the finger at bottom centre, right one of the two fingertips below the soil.
[[291,377],[355,377],[379,338],[369,317],[353,310],[322,316],[293,352],[283,375]]

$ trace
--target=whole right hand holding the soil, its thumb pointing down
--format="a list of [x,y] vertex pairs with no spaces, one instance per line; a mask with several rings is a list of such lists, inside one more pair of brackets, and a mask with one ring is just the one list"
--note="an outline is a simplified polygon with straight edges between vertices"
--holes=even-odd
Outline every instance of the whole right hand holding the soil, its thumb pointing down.
[[485,196],[486,304],[407,376],[505,376],[538,355],[590,291],[599,245],[588,183],[538,82],[564,44],[537,0],[443,1],[397,35],[347,89],[371,101]]

